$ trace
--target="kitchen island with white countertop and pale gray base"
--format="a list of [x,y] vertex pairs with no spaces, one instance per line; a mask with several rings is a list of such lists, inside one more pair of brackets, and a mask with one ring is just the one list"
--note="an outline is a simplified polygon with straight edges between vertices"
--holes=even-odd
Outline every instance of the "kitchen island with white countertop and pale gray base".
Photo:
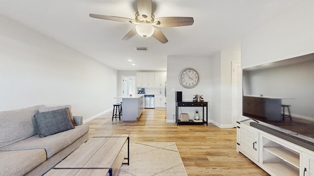
[[136,121],[144,109],[144,95],[118,96],[122,99],[122,121]]

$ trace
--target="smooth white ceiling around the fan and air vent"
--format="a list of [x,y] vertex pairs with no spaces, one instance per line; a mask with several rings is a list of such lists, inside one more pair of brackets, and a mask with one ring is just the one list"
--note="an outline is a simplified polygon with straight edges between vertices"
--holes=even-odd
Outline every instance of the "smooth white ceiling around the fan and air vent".
[[166,70],[167,55],[210,56],[233,46],[239,49],[241,37],[305,0],[152,1],[156,18],[193,17],[194,24],[159,28],[169,41],[161,44],[138,35],[123,41],[134,24],[89,17],[134,19],[136,0],[0,0],[0,14],[117,70]]

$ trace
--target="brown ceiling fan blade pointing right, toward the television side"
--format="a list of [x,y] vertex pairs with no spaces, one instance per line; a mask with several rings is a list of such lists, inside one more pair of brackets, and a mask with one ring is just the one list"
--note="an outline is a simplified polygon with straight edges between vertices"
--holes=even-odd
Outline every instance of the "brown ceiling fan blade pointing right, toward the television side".
[[187,26],[194,23],[193,17],[161,17],[154,21],[158,27]]

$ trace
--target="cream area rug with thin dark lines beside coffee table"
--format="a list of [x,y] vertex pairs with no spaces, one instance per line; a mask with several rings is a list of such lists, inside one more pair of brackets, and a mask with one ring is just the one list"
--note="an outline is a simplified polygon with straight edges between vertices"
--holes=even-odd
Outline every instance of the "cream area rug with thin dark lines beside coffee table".
[[[126,145],[125,145],[126,146]],[[127,149],[123,148],[126,154]],[[187,176],[175,142],[130,143],[130,165],[118,176]]]

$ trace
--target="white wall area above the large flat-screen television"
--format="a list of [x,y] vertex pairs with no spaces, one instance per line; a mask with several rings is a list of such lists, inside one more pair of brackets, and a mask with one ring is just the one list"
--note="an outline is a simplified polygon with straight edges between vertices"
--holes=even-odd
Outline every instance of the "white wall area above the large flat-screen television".
[[314,0],[303,1],[241,41],[241,66],[257,66],[314,52]]

